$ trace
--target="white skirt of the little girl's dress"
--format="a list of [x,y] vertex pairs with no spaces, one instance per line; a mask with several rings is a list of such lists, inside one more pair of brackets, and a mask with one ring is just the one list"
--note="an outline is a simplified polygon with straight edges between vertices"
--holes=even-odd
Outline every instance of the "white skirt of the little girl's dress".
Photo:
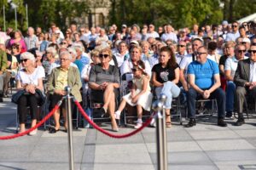
[[[140,89],[137,89],[135,91],[135,94],[139,94],[141,92]],[[125,99],[125,101],[131,105],[131,106],[135,106],[135,105],[142,105],[143,109],[146,111],[150,111],[151,108],[151,103],[152,103],[152,99],[153,99],[153,95],[150,92],[145,92],[143,95],[141,95],[138,99],[137,99],[137,103],[132,103],[131,102],[131,93],[126,94],[123,99]]]

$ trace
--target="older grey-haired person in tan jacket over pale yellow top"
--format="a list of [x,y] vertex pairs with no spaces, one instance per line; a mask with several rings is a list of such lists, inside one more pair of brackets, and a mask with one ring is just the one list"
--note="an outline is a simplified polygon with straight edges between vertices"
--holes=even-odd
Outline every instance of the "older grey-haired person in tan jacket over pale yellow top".
[[[82,101],[80,88],[82,87],[79,69],[71,65],[72,56],[67,51],[60,54],[61,66],[55,67],[50,75],[47,83],[49,92],[49,110],[51,111],[55,105],[66,95],[65,88],[71,88],[71,94],[77,101]],[[64,117],[64,128],[67,132],[67,111],[61,107]],[[49,128],[49,133],[56,133],[60,130],[60,109],[54,113],[55,127]]]

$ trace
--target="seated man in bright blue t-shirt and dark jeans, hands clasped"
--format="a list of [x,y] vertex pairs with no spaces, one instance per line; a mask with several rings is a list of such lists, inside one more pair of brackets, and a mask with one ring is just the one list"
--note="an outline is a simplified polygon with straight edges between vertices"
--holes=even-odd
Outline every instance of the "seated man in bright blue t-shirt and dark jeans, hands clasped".
[[225,117],[225,94],[220,87],[218,65],[211,59],[207,59],[207,48],[201,46],[196,52],[196,60],[189,64],[188,68],[189,91],[188,116],[189,123],[185,127],[193,127],[195,121],[195,100],[217,99],[218,103],[218,126],[226,127]]

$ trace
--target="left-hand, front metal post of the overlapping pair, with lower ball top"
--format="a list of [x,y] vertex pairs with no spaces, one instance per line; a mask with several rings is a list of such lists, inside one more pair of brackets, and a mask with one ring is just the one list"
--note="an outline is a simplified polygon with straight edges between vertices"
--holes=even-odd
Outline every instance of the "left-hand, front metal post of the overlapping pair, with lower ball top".
[[157,169],[158,170],[167,170],[166,166],[166,154],[165,154],[165,146],[164,146],[164,131],[163,131],[163,123],[164,117],[161,114],[163,109],[163,103],[160,101],[155,101],[152,105],[154,111],[156,111],[156,152],[157,152]]

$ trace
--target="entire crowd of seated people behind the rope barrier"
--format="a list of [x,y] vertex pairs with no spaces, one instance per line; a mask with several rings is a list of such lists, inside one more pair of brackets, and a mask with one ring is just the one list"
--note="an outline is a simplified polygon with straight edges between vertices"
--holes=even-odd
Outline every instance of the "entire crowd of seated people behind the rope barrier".
[[[119,32],[115,25],[106,31],[99,26],[89,29],[72,23],[64,35],[52,23],[44,35],[32,27],[24,37],[18,30],[3,32],[6,36],[0,37],[0,102],[8,96],[6,84],[11,72],[19,90],[33,94],[39,89],[49,94],[49,109],[65,95],[67,85],[74,88],[72,95],[79,101],[82,101],[82,92],[84,103],[88,103],[90,89],[92,98],[96,96],[95,99],[103,102],[101,111],[110,116],[113,131],[119,130],[115,118],[119,118],[126,103],[137,105],[135,127],[142,126],[142,110],[148,111],[152,101],[141,103],[141,100],[151,96],[150,93],[156,97],[167,96],[166,127],[172,124],[172,98],[180,94],[182,104],[189,108],[186,127],[196,124],[195,99],[198,97],[217,99],[218,126],[225,127],[224,119],[232,118],[234,112],[239,115],[236,122],[239,126],[244,123],[243,103],[247,101],[247,94],[256,89],[255,27],[253,22],[229,24],[224,21],[218,25],[218,31],[214,26],[196,24],[191,30],[188,27],[175,30],[168,24],[159,27],[163,32],[157,32],[153,24],[143,26],[142,31],[135,24],[122,25]],[[38,82],[33,80],[38,77],[30,76],[32,71],[40,72]],[[31,80],[24,82],[20,74],[28,75]],[[131,94],[117,93],[124,88],[123,82],[128,77],[133,82]],[[122,102],[117,103],[119,107],[115,104],[117,95],[122,95],[119,98]],[[28,102],[33,95],[28,96],[20,98],[23,107],[18,106],[20,132],[25,131],[25,105],[32,105],[31,110],[38,105]],[[90,105],[84,105],[84,109],[88,107]],[[56,111],[54,115],[55,127],[50,133],[60,129],[61,113],[67,122],[65,107],[62,108],[63,111]],[[37,122],[36,113],[31,113],[33,126]]]

